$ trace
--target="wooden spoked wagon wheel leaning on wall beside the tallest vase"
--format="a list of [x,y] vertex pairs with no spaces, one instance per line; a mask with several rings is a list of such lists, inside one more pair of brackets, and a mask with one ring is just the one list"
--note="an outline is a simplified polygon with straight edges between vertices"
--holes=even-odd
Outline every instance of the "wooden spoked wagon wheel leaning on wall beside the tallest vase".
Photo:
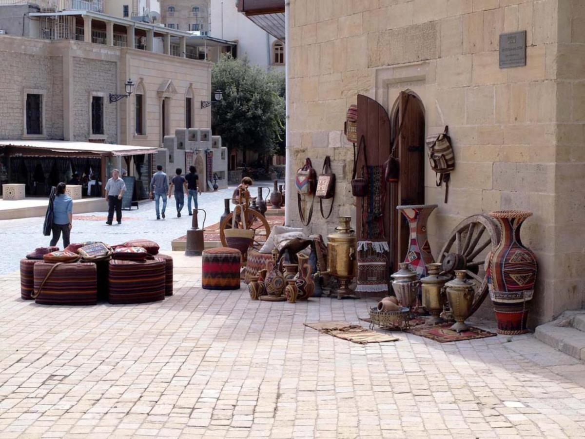
[[500,228],[487,215],[472,215],[457,224],[441,249],[439,261],[443,271],[453,274],[466,270],[474,283],[472,314],[487,296],[485,262],[487,253],[500,243]]

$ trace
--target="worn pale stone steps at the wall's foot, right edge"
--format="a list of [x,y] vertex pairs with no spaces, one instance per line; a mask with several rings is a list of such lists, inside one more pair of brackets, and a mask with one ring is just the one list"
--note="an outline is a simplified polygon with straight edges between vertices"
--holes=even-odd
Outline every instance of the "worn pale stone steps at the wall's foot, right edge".
[[585,313],[567,312],[536,327],[534,335],[543,343],[585,361]]

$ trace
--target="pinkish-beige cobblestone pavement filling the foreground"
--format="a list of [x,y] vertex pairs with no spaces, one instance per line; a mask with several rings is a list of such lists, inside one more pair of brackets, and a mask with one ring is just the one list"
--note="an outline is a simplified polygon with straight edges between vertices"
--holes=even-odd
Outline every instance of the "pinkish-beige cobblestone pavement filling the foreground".
[[136,306],[0,276],[0,437],[585,437],[585,364],[531,335],[352,344],[303,323],[371,301],[250,301],[178,259],[175,295]]

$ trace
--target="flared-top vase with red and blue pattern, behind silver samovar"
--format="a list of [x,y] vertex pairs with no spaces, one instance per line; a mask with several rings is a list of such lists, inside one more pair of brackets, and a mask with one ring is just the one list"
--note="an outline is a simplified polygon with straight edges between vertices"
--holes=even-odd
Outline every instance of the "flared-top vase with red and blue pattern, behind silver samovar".
[[408,262],[412,266],[419,279],[427,275],[426,264],[435,262],[435,258],[431,253],[431,246],[426,237],[426,221],[436,207],[436,204],[396,207],[406,217],[410,228],[410,245],[404,262]]

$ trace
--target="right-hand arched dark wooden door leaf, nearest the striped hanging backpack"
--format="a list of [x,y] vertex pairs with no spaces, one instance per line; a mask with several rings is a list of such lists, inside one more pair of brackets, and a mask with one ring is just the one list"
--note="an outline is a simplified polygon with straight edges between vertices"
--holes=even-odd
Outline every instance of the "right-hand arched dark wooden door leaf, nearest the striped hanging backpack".
[[[421,98],[412,90],[401,91],[394,102],[390,121],[393,142],[397,142],[394,156],[400,163],[398,184],[390,185],[390,204],[393,206],[390,249],[394,253],[391,260],[395,269],[397,263],[404,260],[409,246],[408,224],[400,218],[395,207],[425,203],[425,109]],[[396,135],[398,139],[395,139]]]

